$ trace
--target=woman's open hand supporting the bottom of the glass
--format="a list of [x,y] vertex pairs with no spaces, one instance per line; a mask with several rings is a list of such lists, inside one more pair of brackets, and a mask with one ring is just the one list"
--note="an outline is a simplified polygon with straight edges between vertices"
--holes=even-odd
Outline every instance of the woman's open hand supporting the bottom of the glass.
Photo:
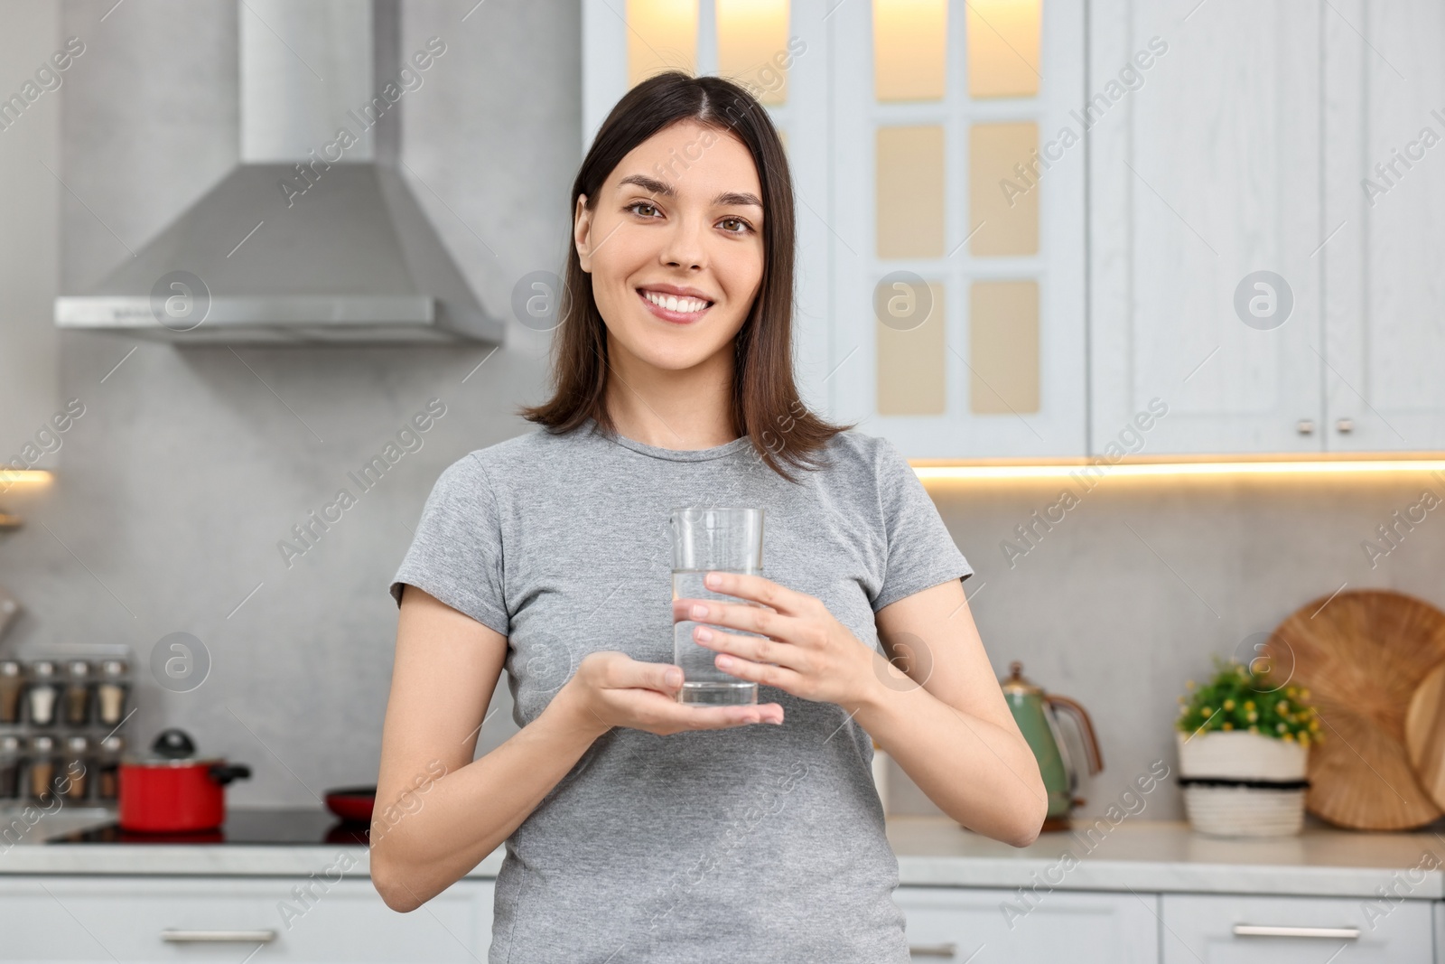
[[701,707],[678,702],[682,669],[673,663],[644,663],[616,650],[592,652],[558,691],[579,726],[601,736],[631,727],[657,736],[682,730],[722,730],[751,723],[782,723],[776,702]]

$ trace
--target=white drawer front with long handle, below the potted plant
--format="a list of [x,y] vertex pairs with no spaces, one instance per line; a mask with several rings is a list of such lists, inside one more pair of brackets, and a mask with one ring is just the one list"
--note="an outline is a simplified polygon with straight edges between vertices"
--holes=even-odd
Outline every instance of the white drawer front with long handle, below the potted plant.
[[[1429,900],[1387,908],[1350,898],[1165,895],[1163,964],[1413,963],[1433,958]],[[1373,908],[1367,913],[1366,908]],[[1237,926],[1311,928],[1315,937],[1235,934]],[[1329,929],[1358,931],[1331,937]]]

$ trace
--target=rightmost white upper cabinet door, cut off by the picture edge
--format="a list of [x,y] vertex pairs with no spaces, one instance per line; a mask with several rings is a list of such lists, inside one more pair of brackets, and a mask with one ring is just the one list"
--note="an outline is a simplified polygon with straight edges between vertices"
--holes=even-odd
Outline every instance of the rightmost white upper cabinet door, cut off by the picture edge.
[[1445,6],[1325,19],[1325,445],[1445,448]]

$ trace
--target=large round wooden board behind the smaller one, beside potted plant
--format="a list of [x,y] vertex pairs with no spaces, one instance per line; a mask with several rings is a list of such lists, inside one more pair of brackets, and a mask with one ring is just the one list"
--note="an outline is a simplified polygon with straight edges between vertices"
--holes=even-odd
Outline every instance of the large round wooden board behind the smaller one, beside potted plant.
[[1308,688],[1319,711],[1325,741],[1309,750],[1309,812],[1354,830],[1441,817],[1415,776],[1405,721],[1416,687],[1445,663],[1445,613],[1389,590],[1340,593],[1300,607],[1266,650],[1270,673]]

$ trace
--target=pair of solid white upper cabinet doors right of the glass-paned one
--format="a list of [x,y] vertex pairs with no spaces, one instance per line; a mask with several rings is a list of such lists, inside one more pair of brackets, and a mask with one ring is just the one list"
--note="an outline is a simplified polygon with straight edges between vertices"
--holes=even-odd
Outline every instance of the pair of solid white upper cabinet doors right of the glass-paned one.
[[[1155,396],[1147,454],[1445,448],[1445,7],[1100,0],[1090,30],[1091,94],[1169,43],[1091,132],[1095,451]],[[1277,327],[1235,308],[1260,270]]]

